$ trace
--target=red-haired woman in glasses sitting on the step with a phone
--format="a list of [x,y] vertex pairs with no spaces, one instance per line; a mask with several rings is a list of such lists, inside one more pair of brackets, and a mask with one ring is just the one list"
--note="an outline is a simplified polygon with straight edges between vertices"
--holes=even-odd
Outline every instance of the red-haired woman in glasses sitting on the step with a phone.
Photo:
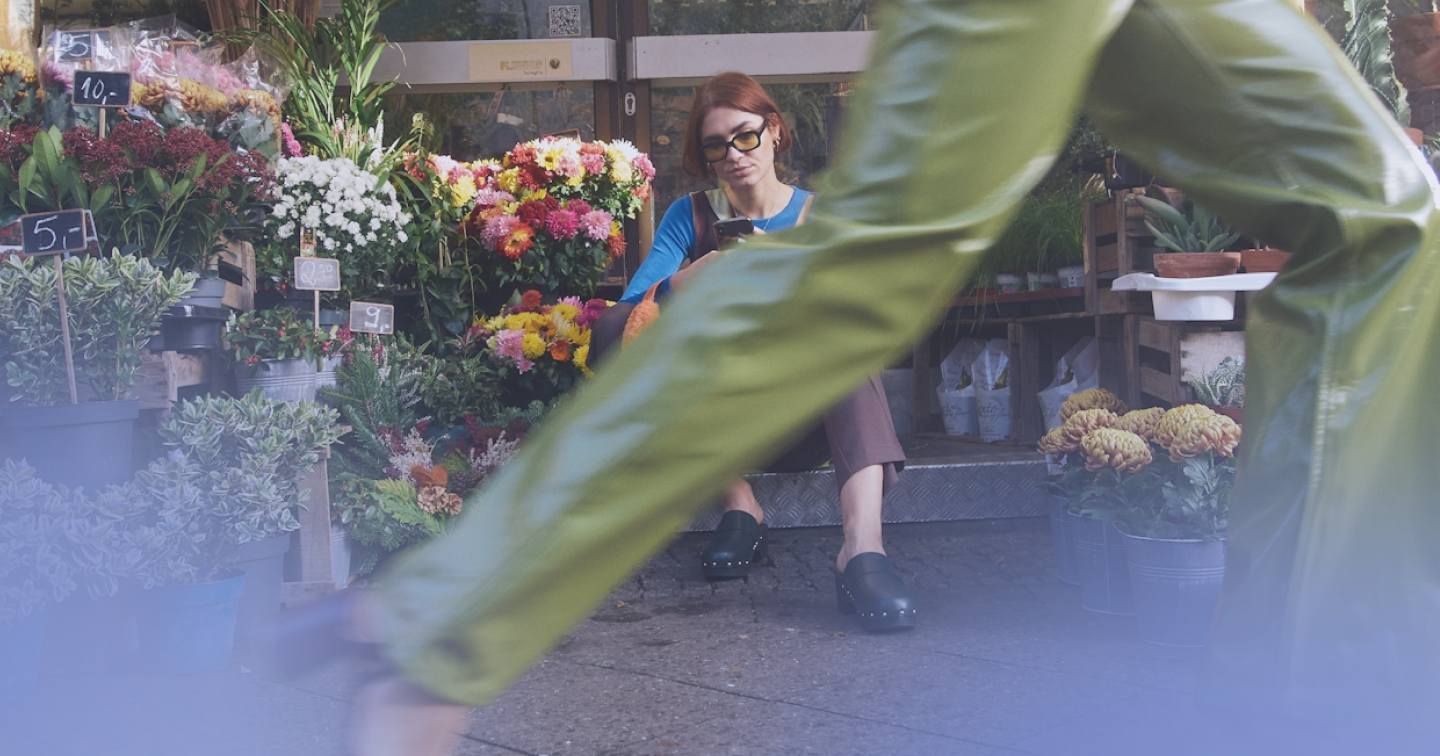
[[[664,297],[716,259],[717,222],[749,219],[752,233],[773,233],[804,223],[814,194],[782,183],[775,174],[775,158],[789,145],[791,131],[779,108],[750,76],[720,73],[696,91],[685,127],[685,171],[697,177],[714,176],[721,186],[680,197],[665,212],[649,256],[621,302],[595,324],[592,364],[599,364],[621,341],[629,312],[648,291],[654,288]],[[744,253],[743,246],[734,253]],[[858,613],[861,625],[873,632],[913,628],[914,596],[886,557],[880,534],[881,498],[897,481],[904,452],[877,377],[827,412],[819,428],[768,469],[812,469],[827,459],[835,468],[845,533],[835,557],[840,611]],[[765,554],[763,523],[765,511],[750,484],[743,478],[730,484],[720,526],[700,557],[706,577],[747,575]]]

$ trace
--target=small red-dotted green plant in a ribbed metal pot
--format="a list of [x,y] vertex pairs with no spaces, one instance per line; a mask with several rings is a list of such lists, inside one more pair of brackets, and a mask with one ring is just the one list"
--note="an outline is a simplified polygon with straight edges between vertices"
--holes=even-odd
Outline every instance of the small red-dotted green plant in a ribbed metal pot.
[[315,373],[330,334],[288,307],[230,315],[225,340],[235,351],[242,393],[261,389],[269,399],[314,402]]

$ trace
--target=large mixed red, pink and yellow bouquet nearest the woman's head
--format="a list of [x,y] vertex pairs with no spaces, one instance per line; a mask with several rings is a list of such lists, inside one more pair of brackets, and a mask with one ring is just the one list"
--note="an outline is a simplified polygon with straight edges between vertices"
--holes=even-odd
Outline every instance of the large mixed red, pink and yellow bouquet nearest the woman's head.
[[462,233],[490,256],[488,289],[589,297],[625,252],[619,220],[649,197],[655,168],[624,140],[544,137],[472,173],[481,184]]

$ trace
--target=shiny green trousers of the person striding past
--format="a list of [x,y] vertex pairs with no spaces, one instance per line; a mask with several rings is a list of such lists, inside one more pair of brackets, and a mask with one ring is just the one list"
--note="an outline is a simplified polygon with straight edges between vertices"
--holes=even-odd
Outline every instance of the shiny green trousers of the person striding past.
[[384,576],[390,658],[458,701],[504,690],[737,471],[926,333],[1086,98],[1143,164],[1296,251],[1251,311],[1207,691],[1269,706],[1352,678],[1433,690],[1433,190],[1282,0],[891,6],[811,222],[697,276],[455,533]]

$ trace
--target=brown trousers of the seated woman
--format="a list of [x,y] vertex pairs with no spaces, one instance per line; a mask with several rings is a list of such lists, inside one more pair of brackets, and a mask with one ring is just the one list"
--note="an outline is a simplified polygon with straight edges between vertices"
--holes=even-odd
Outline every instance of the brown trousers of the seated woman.
[[[595,370],[625,333],[625,320],[635,305],[616,302],[595,321],[588,363]],[[896,438],[890,403],[878,376],[870,376],[854,393],[825,412],[789,449],[765,467],[765,472],[804,472],[825,462],[835,468],[835,488],[842,488],[857,471],[884,465],[884,490],[900,480],[904,449]]]

